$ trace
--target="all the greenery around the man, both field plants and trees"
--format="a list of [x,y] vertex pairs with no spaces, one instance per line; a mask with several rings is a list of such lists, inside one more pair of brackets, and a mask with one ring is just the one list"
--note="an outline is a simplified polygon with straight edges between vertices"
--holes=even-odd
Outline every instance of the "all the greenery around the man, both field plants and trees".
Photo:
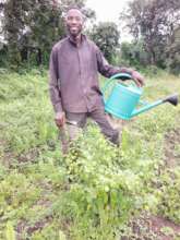
[[[0,2],[0,239],[180,239],[180,107],[161,105],[124,123],[115,148],[88,122],[64,158],[48,94],[52,45],[77,4],[110,63],[146,76],[154,101],[180,93],[180,2],[133,0],[115,23],[96,24],[85,1]],[[100,79],[100,84],[104,84]]]

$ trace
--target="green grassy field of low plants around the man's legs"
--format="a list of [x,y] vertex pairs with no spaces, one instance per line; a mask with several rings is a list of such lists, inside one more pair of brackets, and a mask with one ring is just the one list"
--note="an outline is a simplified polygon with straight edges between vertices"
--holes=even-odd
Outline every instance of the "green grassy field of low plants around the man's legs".
[[[154,101],[175,92],[180,93],[180,79],[160,73],[147,77],[144,97]],[[167,135],[180,133],[179,116],[180,107],[168,104],[140,115],[127,122],[120,148],[91,123],[64,158],[47,72],[4,71],[0,75],[0,239],[137,239],[131,223],[144,213],[179,225],[176,135],[173,168],[166,165],[171,159],[165,152],[170,146]],[[142,232],[143,239],[158,239],[155,232]]]

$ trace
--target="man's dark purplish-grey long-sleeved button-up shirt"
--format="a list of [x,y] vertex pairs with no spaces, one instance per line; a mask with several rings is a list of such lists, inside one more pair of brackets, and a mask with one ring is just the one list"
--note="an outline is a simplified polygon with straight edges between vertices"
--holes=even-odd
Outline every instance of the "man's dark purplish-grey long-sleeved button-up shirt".
[[106,61],[98,47],[82,35],[77,47],[70,37],[57,43],[50,56],[50,98],[56,112],[89,112],[103,107],[98,72],[106,77],[119,72]]

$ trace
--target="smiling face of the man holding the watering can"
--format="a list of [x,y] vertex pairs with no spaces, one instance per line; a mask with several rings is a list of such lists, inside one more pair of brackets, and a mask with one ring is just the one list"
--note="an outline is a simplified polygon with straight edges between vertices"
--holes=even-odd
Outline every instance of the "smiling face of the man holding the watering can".
[[83,28],[83,14],[76,10],[71,9],[67,13],[65,24],[71,36],[76,37],[80,35]]

